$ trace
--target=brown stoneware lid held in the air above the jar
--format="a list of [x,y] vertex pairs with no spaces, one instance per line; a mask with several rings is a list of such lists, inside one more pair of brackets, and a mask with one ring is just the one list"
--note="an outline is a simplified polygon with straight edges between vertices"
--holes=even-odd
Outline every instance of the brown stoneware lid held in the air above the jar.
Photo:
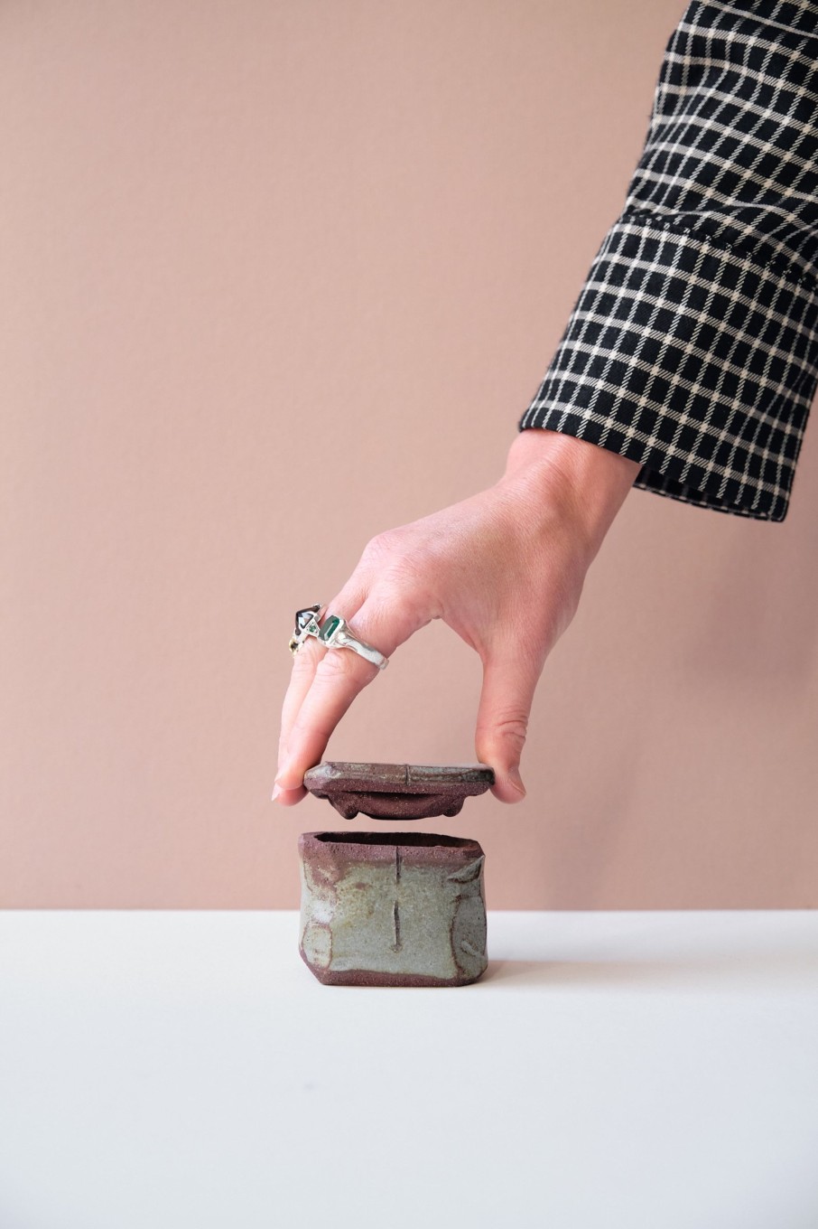
[[305,773],[305,787],[346,820],[427,820],[457,815],[464,799],[494,785],[488,764],[372,764],[328,761]]

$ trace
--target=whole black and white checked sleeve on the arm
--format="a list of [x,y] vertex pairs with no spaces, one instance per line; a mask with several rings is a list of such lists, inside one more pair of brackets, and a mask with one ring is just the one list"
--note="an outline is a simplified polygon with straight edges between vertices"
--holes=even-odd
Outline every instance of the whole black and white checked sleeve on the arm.
[[694,0],[645,147],[520,429],[784,520],[818,381],[818,0]]

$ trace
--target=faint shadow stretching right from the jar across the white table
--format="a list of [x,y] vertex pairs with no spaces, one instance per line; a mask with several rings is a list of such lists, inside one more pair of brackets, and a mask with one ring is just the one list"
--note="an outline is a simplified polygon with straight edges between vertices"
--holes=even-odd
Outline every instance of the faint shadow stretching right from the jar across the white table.
[[515,987],[664,988],[755,986],[758,978],[790,987],[818,984],[818,952],[696,956],[679,960],[490,960],[481,982]]

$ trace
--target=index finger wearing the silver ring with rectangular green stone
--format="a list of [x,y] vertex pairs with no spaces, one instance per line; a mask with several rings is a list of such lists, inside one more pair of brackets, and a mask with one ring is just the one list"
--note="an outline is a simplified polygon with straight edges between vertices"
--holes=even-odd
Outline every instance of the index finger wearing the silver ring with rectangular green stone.
[[[388,600],[375,592],[350,618],[350,632],[388,658],[425,622],[427,619],[409,602]],[[275,778],[282,790],[281,801],[285,801],[284,791],[290,794],[302,789],[305,772],[321,762],[344,713],[364,687],[380,673],[377,666],[351,649],[319,648],[319,653],[323,655],[316,662],[311,682],[289,729],[285,758]],[[307,672],[308,667],[305,667],[305,675]],[[298,688],[303,681],[300,680]],[[295,704],[295,694],[292,703]]]

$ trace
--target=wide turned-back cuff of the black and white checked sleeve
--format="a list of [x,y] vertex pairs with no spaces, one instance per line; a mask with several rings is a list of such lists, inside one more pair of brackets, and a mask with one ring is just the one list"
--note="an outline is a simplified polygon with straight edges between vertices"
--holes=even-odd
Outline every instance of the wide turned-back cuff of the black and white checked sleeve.
[[520,429],[637,461],[645,490],[781,521],[818,382],[818,284],[701,224],[614,224]]

